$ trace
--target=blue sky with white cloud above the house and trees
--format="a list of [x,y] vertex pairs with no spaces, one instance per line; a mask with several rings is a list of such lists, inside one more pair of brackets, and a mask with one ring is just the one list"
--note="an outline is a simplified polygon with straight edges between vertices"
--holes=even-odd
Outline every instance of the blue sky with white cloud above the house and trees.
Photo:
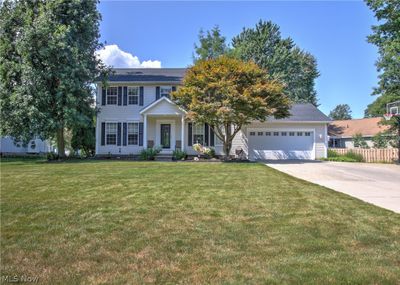
[[116,45],[103,55],[114,65],[185,67],[200,28],[219,25],[230,42],[243,27],[272,20],[317,58],[323,112],[347,103],[359,118],[375,99],[378,54],[366,37],[376,20],[362,1],[102,1],[99,9],[101,41]]

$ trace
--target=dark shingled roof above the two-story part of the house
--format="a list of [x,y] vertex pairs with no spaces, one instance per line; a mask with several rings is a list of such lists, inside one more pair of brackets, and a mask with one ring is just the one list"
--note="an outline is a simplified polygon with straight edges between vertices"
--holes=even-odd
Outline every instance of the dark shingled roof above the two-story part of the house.
[[113,68],[109,82],[160,82],[179,84],[186,68]]

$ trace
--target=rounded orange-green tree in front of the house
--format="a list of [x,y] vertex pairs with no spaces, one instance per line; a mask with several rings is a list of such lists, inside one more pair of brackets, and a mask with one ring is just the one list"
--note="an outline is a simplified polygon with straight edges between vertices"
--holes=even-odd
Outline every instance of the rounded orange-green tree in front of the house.
[[243,126],[289,115],[290,100],[280,83],[255,63],[227,56],[197,61],[172,98],[188,110],[189,119],[211,126],[226,156]]

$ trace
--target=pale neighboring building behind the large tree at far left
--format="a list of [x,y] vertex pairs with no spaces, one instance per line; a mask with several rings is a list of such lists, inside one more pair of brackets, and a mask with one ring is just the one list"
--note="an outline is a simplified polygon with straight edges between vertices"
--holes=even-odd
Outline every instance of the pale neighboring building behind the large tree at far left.
[[30,140],[27,144],[15,142],[10,136],[0,138],[0,153],[9,155],[40,154],[51,152],[52,147],[48,141],[38,138]]

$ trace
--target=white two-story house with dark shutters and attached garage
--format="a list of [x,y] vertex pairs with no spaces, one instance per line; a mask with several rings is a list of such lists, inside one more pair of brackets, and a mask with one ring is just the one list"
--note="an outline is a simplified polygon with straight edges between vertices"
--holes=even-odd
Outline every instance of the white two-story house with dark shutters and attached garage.
[[[169,94],[186,69],[115,69],[107,88],[98,83],[99,107],[96,155],[138,155],[142,149],[162,146],[195,155],[194,143],[215,148],[222,144],[207,124],[188,121]],[[327,125],[330,119],[311,104],[295,104],[286,119],[254,122],[234,140],[231,154],[242,150],[250,160],[316,159],[327,156]]]

